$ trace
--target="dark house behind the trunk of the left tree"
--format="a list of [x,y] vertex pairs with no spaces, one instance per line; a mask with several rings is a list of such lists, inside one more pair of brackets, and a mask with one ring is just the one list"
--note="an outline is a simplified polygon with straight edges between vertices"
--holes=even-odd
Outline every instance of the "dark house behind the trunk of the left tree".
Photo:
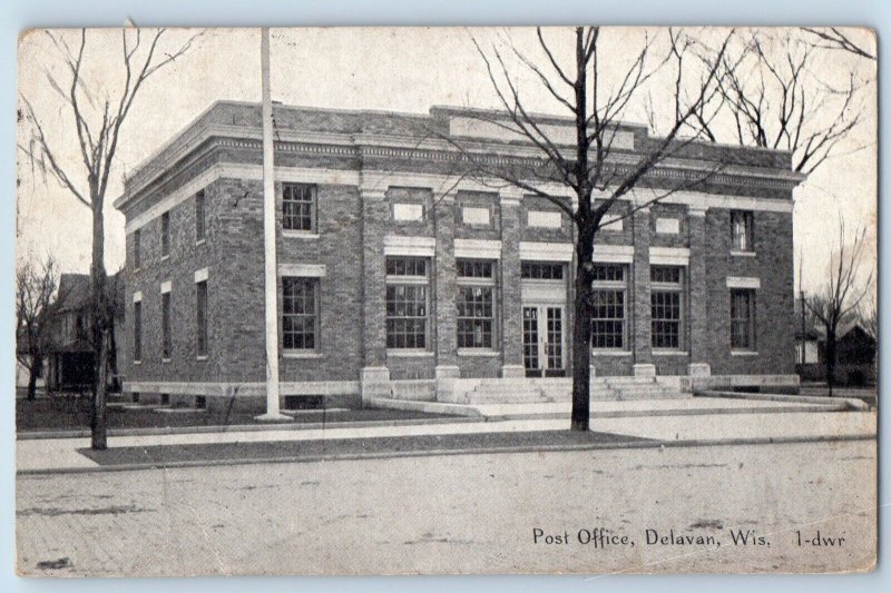
[[[117,347],[114,334],[124,323],[120,305],[124,294],[119,275],[108,277],[108,293],[115,308],[112,356],[109,375],[117,367]],[[90,277],[87,274],[62,274],[59,278],[57,315],[50,330],[50,346],[46,362],[48,392],[86,391],[92,384],[95,355],[90,342],[92,313],[90,310]]]

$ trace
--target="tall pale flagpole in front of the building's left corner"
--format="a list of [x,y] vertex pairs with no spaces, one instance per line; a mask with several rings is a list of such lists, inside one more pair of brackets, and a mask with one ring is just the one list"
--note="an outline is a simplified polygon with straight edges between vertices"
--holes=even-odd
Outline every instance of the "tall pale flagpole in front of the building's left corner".
[[275,147],[270,90],[270,29],[261,30],[263,78],[263,248],[266,295],[266,413],[261,421],[287,419],[278,409],[278,264],[275,240]]

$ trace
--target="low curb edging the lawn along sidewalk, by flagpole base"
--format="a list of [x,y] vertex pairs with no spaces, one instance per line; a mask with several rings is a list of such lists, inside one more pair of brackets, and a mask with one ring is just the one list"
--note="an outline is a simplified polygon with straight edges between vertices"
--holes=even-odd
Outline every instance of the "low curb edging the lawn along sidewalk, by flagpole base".
[[[208,433],[260,433],[272,431],[321,431],[327,428],[369,428],[374,426],[420,426],[427,424],[466,424],[486,422],[484,417],[454,416],[443,418],[405,418],[392,421],[307,422],[293,424],[232,424],[216,426],[169,426],[157,428],[109,428],[108,436],[166,436]],[[87,438],[89,431],[27,431],[16,435],[16,441],[45,438]]]

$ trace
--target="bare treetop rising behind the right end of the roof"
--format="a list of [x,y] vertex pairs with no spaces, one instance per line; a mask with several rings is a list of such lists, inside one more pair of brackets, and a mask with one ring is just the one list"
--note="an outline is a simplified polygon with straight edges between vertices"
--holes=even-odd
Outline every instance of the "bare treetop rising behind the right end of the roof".
[[793,170],[810,174],[838,154],[840,141],[863,118],[862,85],[849,71],[844,85],[830,86],[811,70],[823,48],[794,30],[780,34],[752,31],[726,52],[722,107],[737,142],[789,150]]

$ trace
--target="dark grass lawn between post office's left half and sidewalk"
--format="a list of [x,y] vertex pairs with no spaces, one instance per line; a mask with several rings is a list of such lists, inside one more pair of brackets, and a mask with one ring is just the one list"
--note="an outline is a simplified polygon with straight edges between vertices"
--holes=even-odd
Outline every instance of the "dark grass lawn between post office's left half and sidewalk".
[[[109,402],[115,402],[115,398]],[[117,399],[119,401],[119,399]],[[441,418],[442,415],[395,409],[345,409],[345,411],[303,411],[296,414],[294,423],[336,423],[368,421],[402,421],[419,418]],[[151,409],[108,408],[108,427],[115,428],[161,428],[179,426],[232,426],[245,424],[267,424],[254,419],[254,414],[245,412],[204,412],[163,414]],[[90,401],[85,397],[39,396],[33,402],[16,399],[16,429],[29,431],[82,431],[90,427]]]

